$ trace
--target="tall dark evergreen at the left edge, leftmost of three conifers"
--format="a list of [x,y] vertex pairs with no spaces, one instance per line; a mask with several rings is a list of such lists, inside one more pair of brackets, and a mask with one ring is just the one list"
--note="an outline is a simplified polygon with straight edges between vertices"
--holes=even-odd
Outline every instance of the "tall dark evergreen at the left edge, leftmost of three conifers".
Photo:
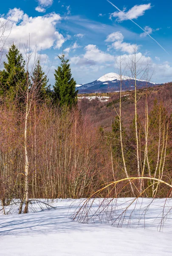
[[4,70],[0,73],[0,95],[14,99],[16,95],[21,97],[22,90],[25,90],[25,61],[14,43],[6,57],[7,62],[4,61]]

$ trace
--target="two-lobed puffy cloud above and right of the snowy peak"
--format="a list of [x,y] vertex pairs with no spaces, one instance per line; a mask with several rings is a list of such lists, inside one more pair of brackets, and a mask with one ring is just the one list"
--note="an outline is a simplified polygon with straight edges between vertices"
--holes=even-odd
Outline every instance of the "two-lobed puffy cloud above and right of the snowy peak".
[[113,32],[107,36],[105,42],[111,42],[112,44],[108,46],[108,49],[114,48],[116,50],[121,50],[122,52],[133,53],[137,52],[139,46],[135,44],[129,44],[124,42],[124,36],[120,31]]

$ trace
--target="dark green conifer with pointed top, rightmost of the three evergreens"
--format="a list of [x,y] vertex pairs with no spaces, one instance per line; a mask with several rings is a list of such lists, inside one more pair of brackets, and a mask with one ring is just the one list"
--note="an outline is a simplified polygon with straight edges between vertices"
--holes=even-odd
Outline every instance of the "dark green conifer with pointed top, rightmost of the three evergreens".
[[70,106],[76,105],[77,103],[77,93],[75,86],[76,81],[72,78],[69,60],[65,58],[65,55],[59,56],[61,61],[60,66],[55,70],[55,85],[54,93],[55,100],[59,102],[60,106]]

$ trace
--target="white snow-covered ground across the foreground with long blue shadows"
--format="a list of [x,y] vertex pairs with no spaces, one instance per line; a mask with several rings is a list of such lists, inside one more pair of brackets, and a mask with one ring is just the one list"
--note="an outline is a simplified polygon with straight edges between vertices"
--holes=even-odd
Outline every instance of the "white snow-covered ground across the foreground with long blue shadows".
[[[124,209],[130,203],[129,200],[129,198],[120,198],[118,205]],[[132,205],[131,211],[134,212],[128,228],[103,224],[99,218],[95,218],[95,223],[91,221],[83,224],[73,221],[70,216],[80,202],[80,200],[54,200],[52,205],[55,209],[45,211],[40,211],[40,205],[35,203],[31,204],[30,213],[22,215],[17,215],[19,207],[17,205],[13,207],[12,215],[0,215],[0,255],[172,255],[172,216],[166,216],[163,232],[157,231],[163,206],[165,212],[168,212],[172,206],[172,199],[166,201],[165,205],[165,199],[156,199],[149,208],[146,208],[151,199],[140,198],[136,206]],[[98,205],[98,200],[94,201],[94,212]],[[142,218],[140,218],[140,207],[147,210]],[[127,212],[126,218],[129,213],[131,212]],[[139,225],[138,219],[140,219]],[[135,228],[137,226],[138,228]]]

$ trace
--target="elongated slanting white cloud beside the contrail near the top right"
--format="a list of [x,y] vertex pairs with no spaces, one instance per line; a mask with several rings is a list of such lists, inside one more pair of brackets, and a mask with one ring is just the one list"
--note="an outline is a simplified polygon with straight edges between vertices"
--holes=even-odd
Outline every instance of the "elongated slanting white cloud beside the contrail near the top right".
[[134,20],[143,16],[146,10],[151,9],[150,3],[133,6],[128,12],[113,12],[110,17],[116,17],[119,22],[123,20]]

